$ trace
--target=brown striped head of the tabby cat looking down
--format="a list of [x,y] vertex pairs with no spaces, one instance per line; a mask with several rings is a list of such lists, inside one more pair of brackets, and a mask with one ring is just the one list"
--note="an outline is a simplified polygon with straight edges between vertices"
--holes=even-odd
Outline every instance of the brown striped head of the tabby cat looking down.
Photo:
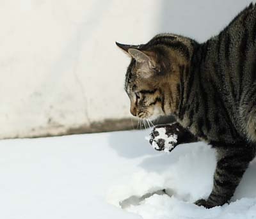
[[131,57],[125,75],[131,114],[156,119],[175,112],[180,100],[180,74],[186,64],[182,54],[163,45],[116,45]]

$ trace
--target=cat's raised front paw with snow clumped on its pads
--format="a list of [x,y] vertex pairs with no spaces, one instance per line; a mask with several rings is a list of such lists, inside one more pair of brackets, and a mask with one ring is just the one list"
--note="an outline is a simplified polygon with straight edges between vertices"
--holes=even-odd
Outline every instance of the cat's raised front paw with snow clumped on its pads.
[[177,146],[177,134],[170,133],[170,125],[156,126],[150,133],[149,142],[157,151],[170,153]]

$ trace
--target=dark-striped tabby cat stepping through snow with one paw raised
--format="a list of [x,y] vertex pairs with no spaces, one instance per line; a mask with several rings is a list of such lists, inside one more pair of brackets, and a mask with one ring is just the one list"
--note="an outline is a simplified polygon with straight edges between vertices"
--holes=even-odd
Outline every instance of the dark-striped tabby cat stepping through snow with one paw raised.
[[[255,4],[204,43],[158,34],[146,44],[116,45],[131,57],[125,75],[131,114],[173,115],[177,122],[161,127],[177,134],[176,144],[203,140],[216,149],[212,192],[195,204],[212,208],[228,202],[255,157]],[[156,135],[157,127],[150,144]],[[164,139],[155,142],[163,149]]]

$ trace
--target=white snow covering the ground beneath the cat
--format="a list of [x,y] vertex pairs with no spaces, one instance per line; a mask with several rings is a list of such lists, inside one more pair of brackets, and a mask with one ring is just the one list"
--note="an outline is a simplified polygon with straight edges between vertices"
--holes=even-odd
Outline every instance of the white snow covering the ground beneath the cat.
[[0,218],[256,217],[255,161],[231,204],[205,209],[193,202],[211,192],[214,150],[198,142],[159,153],[148,133],[1,140]]

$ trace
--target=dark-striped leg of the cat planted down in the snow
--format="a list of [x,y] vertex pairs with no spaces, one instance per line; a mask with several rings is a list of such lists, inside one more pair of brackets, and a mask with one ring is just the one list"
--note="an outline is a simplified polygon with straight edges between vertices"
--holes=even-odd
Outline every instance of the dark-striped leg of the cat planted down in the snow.
[[217,165],[212,192],[207,200],[200,199],[195,202],[198,206],[205,208],[222,206],[231,199],[248,164],[255,156],[255,147],[252,145],[218,144],[215,147]]

